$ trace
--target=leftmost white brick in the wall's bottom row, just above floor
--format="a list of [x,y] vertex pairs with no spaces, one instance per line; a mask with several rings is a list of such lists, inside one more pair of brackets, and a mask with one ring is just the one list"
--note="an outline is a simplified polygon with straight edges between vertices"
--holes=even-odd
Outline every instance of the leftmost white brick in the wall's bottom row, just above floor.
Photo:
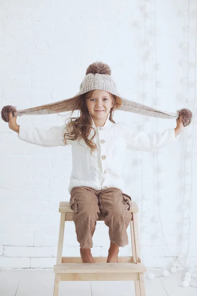
[[0,257],[0,268],[30,268],[30,258]]

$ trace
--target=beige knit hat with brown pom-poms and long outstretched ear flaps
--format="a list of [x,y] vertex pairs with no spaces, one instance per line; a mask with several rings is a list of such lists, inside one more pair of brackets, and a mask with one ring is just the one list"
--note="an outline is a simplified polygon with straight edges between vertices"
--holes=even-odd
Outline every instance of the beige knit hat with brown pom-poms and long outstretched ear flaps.
[[[12,112],[14,116],[22,116],[33,114],[53,114],[65,111],[78,110],[79,107],[77,104],[77,98],[79,98],[80,95],[90,90],[96,89],[107,91],[121,98],[122,105],[115,110],[128,111],[138,113],[141,115],[165,119],[179,119],[180,115],[182,115],[184,126],[188,126],[192,121],[192,111],[186,108],[177,110],[176,113],[174,113],[154,109],[152,107],[122,98],[116,90],[116,84],[111,77],[110,67],[102,62],[95,62],[87,68],[86,75],[82,83],[80,84],[79,92],[74,97],[63,101],[58,101],[55,103],[19,111],[16,110],[16,107],[10,105],[4,106],[1,110],[1,118],[5,122],[9,122],[9,112]],[[193,111],[197,111],[197,108]]]

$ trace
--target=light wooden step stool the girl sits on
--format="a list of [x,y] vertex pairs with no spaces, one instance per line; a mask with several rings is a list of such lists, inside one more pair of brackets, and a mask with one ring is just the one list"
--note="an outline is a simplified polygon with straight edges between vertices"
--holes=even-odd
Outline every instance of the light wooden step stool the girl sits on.
[[[60,281],[135,281],[135,296],[145,296],[144,272],[140,263],[139,234],[137,225],[138,207],[131,202],[131,257],[119,257],[118,263],[106,263],[107,257],[96,257],[96,263],[82,263],[81,257],[62,257],[65,221],[72,221],[73,210],[69,202],[60,202],[60,232],[57,264],[54,265],[54,296],[59,295]],[[99,216],[99,221],[104,218]]]

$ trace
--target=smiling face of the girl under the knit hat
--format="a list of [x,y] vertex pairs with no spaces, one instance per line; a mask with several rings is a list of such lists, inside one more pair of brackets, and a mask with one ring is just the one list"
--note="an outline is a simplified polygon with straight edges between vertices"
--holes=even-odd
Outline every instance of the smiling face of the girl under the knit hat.
[[106,120],[113,107],[113,95],[104,90],[95,90],[92,96],[86,98],[86,106],[93,120]]

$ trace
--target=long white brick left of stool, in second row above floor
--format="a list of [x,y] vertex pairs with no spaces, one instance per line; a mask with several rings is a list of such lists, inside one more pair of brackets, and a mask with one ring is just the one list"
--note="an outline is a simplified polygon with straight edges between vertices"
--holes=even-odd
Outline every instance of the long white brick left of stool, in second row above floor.
[[5,257],[52,257],[52,248],[39,247],[4,247]]

